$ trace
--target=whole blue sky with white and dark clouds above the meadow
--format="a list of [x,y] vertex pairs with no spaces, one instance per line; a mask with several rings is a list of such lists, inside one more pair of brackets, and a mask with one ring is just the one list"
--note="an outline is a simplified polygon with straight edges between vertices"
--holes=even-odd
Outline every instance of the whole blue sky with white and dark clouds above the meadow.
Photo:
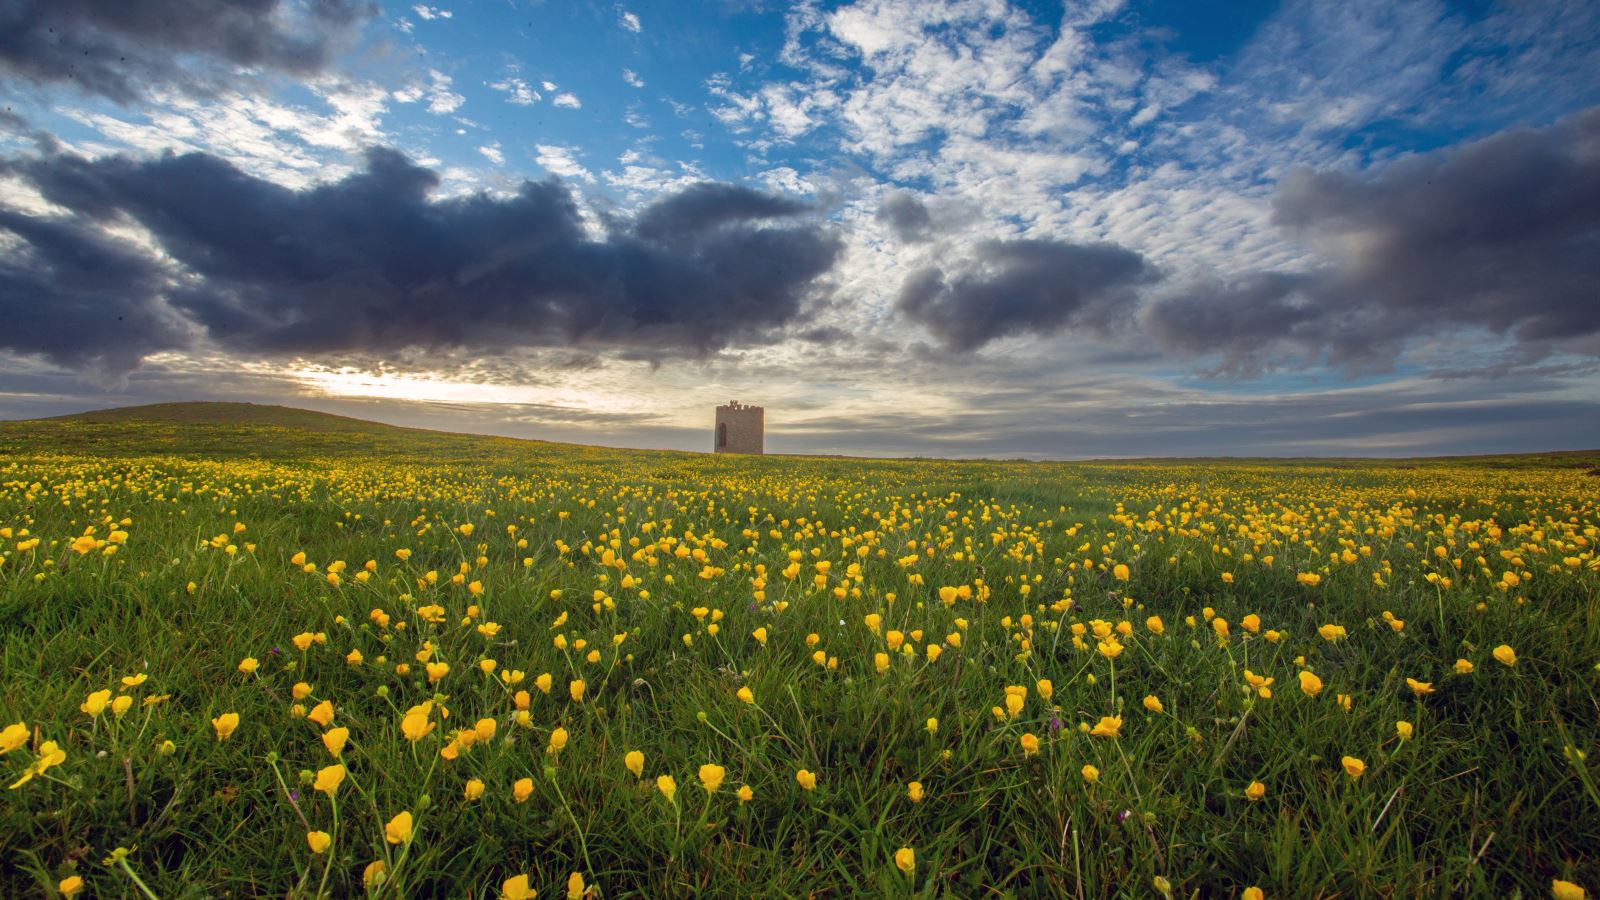
[[0,0],[0,418],[1600,447],[1587,0]]

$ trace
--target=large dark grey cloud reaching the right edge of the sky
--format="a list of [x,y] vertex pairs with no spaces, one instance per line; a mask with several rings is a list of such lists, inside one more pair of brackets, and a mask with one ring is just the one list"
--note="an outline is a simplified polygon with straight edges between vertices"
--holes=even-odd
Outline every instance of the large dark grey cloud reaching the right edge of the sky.
[[1326,264],[1190,285],[1152,304],[1150,330],[1234,370],[1277,354],[1382,365],[1406,340],[1459,327],[1509,335],[1525,357],[1597,346],[1600,109],[1378,178],[1294,171],[1274,219]]

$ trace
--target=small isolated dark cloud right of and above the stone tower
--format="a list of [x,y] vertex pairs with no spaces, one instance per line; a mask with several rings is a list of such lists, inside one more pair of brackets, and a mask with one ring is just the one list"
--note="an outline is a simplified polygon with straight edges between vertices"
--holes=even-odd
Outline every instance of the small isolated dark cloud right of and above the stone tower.
[[1112,243],[986,240],[955,272],[930,266],[907,275],[894,306],[946,349],[971,351],[1011,335],[1106,331],[1155,279],[1142,256]]

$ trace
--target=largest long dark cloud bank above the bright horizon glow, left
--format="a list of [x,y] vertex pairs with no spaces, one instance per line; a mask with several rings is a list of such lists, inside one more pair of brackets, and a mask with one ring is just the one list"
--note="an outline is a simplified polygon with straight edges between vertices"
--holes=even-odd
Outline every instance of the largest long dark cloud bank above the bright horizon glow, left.
[[[22,250],[0,267],[0,311],[32,322],[0,333],[0,346],[64,364],[117,348],[98,362],[126,368],[178,341],[182,328],[157,327],[166,320],[262,354],[704,354],[797,319],[840,253],[803,205],[747,189],[691,186],[645,207],[632,229],[594,239],[555,179],[512,197],[435,200],[438,176],[387,149],[307,191],[205,154],[42,155],[6,170],[74,215],[8,213]],[[125,219],[178,266],[114,250],[102,227]],[[142,325],[112,327],[107,314],[123,307]],[[88,320],[96,331],[82,331]]]

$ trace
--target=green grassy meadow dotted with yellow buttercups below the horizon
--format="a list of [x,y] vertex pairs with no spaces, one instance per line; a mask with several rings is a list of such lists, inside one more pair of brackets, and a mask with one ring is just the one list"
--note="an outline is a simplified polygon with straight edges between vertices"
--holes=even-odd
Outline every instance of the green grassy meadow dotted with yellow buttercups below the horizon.
[[1578,897],[1597,458],[5,423],[0,895]]

